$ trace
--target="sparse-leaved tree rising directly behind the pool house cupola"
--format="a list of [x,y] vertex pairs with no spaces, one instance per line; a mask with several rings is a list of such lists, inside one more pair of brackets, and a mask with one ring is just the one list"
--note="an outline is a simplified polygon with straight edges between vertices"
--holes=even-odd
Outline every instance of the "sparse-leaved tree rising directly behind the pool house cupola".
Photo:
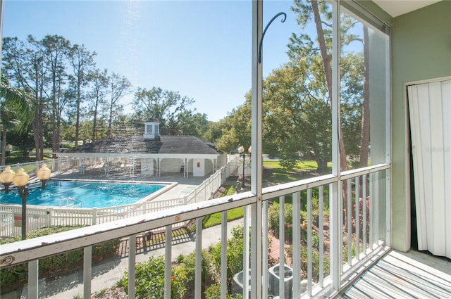
[[159,120],[160,132],[164,135],[177,134],[178,114],[187,111],[192,103],[192,98],[180,96],[175,91],[163,91],[159,87],[139,88],[133,99],[136,118],[142,122],[149,118]]

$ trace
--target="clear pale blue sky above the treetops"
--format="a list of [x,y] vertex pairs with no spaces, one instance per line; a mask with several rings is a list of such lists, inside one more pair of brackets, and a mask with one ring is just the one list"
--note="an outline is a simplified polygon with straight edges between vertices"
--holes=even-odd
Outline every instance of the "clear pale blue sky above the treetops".
[[[299,31],[292,1],[266,1],[264,25],[283,11],[264,39],[264,75],[288,61]],[[134,88],[178,91],[209,120],[225,117],[251,87],[252,2],[6,0],[4,37],[58,34],[96,51],[97,68],[124,75]],[[123,99],[131,110],[132,94]],[[128,104],[128,105],[127,105]]]

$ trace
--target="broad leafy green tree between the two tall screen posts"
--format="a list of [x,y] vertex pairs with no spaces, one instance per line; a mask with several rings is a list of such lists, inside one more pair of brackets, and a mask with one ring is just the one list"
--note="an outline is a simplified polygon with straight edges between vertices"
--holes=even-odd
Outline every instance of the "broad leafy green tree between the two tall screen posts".
[[331,112],[323,84],[309,72],[321,72],[318,56],[285,63],[264,81],[264,151],[293,167],[302,157],[327,172],[331,156]]

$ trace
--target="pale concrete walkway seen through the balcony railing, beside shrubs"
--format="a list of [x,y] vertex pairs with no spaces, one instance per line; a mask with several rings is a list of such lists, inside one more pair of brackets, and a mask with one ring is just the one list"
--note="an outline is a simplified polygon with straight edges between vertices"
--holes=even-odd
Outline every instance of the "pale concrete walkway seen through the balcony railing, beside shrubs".
[[[231,236],[233,227],[242,224],[241,220],[228,222],[228,237]],[[202,231],[202,248],[208,248],[214,243],[221,241],[221,225],[210,227]],[[176,244],[174,244],[176,243]],[[194,238],[185,237],[184,242],[173,240],[172,257],[173,260],[178,255],[188,255],[195,250]],[[136,262],[144,262],[151,256],[164,255],[164,243],[159,248],[150,248],[147,252],[142,249],[136,254]],[[116,281],[121,279],[124,272],[128,271],[128,257],[112,257],[104,262],[99,262],[92,267],[91,291],[95,293],[104,288],[116,285]],[[21,292],[12,292],[2,295],[2,299],[27,298],[27,286]],[[76,295],[83,294],[83,272],[82,269],[64,276],[56,276],[46,279],[39,279],[39,298],[71,299]]]

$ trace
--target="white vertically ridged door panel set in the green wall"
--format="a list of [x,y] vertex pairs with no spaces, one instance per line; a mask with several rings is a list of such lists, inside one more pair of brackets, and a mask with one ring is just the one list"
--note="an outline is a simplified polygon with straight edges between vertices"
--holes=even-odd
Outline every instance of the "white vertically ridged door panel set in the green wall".
[[419,250],[451,258],[451,79],[407,94]]

